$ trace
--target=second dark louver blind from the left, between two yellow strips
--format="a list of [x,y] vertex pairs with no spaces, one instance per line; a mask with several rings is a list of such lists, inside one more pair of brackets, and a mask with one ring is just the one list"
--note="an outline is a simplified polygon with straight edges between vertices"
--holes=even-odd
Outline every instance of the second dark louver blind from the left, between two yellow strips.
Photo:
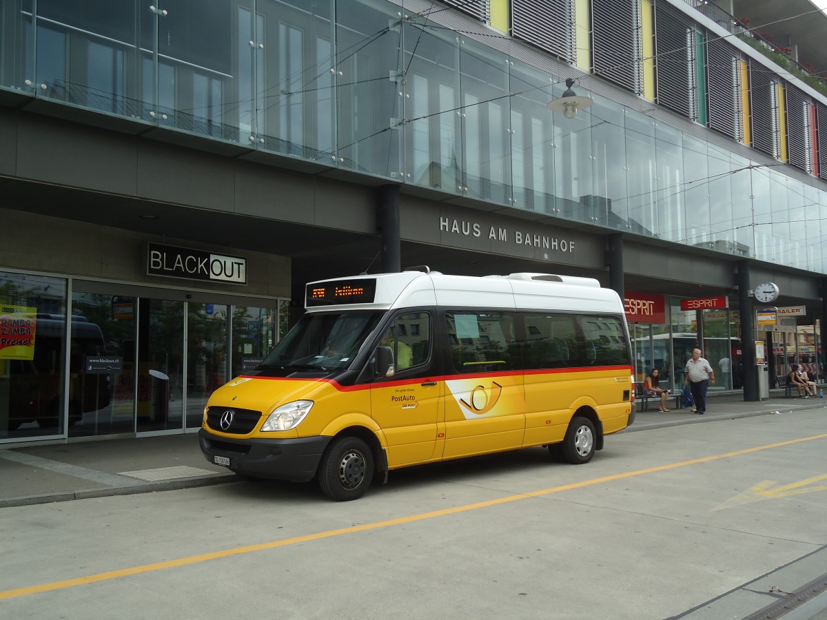
[[512,0],[514,38],[559,56],[576,60],[572,0]]

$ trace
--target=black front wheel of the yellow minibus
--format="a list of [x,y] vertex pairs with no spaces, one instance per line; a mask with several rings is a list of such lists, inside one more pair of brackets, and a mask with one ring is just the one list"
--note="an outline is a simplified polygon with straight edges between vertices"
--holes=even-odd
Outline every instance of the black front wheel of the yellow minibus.
[[327,446],[318,465],[322,493],[337,502],[361,498],[373,479],[373,454],[358,437],[340,437]]

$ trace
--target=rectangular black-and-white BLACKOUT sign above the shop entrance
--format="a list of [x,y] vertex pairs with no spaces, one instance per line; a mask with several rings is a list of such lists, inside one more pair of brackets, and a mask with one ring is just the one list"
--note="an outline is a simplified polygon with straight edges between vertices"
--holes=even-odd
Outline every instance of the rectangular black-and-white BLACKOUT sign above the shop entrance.
[[239,256],[147,243],[146,274],[247,284],[247,260]]

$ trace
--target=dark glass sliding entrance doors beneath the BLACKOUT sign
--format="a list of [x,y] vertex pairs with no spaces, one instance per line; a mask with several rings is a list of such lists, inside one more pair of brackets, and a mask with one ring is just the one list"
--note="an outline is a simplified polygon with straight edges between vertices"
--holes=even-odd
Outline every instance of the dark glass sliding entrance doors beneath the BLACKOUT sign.
[[260,364],[287,329],[286,301],[264,308],[146,292],[84,281],[72,293],[69,436],[198,428],[210,394]]

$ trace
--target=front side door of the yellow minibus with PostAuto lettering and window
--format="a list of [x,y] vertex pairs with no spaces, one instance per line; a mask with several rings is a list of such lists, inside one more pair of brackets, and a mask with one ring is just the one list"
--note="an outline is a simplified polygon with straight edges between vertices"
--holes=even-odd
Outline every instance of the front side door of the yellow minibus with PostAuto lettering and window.
[[[428,312],[396,317],[380,344],[394,351],[395,371],[370,388],[371,415],[385,434],[388,466],[437,460],[437,423],[444,417],[442,376],[433,376],[431,318]],[[441,445],[441,442],[440,442]]]

